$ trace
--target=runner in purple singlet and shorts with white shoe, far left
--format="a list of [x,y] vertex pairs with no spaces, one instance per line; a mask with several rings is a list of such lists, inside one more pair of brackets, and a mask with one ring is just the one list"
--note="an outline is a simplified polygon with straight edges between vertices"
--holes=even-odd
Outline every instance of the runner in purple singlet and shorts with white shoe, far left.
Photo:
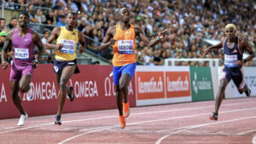
[[29,15],[26,13],[19,14],[19,28],[8,33],[2,49],[2,67],[7,68],[7,51],[14,51],[14,63],[10,72],[10,89],[15,107],[20,111],[20,120],[17,125],[23,125],[27,114],[21,105],[19,90],[26,93],[30,89],[33,69],[37,67],[38,60],[35,60],[34,49],[38,46],[38,59],[44,52],[44,45],[37,32],[34,32],[27,25]]

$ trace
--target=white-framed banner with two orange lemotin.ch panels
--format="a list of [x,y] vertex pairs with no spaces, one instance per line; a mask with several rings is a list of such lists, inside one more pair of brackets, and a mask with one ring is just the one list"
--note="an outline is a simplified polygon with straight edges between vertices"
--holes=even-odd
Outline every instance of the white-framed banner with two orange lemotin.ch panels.
[[191,101],[189,66],[137,66],[137,106]]

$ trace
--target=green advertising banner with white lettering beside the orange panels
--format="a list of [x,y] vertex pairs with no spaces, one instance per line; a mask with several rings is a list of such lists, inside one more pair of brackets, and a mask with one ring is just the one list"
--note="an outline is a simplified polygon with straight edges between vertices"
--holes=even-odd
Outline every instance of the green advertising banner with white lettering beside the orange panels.
[[190,66],[190,78],[192,101],[214,99],[210,67]]

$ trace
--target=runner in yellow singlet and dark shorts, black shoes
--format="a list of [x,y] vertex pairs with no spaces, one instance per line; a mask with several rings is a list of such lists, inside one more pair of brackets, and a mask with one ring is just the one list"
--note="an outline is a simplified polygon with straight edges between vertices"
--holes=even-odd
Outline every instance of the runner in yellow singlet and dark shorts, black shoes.
[[[52,43],[56,39],[56,43],[61,43],[60,49],[57,49],[55,55],[54,72],[55,79],[59,87],[58,93],[58,111],[55,117],[55,124],[61,125],[61,110],[68,96],[73,101],[73,87],[67,88],[67,82],[73,73],[79,73],[76,60],[76,47],[79,43],[79,52],[84,52],[83,34],[74,29],[77,16],[74,13],[67,14],[67,26],[55,27],[48,42]],[[49,44],[46,47],[51,47]]]

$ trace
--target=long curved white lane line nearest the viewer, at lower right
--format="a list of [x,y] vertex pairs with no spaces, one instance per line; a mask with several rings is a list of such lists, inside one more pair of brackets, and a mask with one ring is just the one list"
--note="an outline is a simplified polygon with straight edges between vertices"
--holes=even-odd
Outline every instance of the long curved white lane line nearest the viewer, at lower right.
[[185,131],[185,130],[191,130],[191,129],[195,129],[195,128],[203,127],[203,126],[207,126],[207,125],[212,125],[212,124],[222,124],[222,123],[227,123],[227,122],[234,122],[234,121],[243,120],[243,119],[248,119],[248,118],[256,118],[256,116],[253,116],[253,117],[245,117],[245,118],[236,118],[236,119],[230,119],[230,120],[224,120],[224,121],[216,122],[216,123],[207,123],[207,124],[190,125],[187,129],[177,130],[177,131],[172,132],[172,133],[170,133],[170,134],[168,134],[168,135],[162,136],[160,139],[158,139],[158,141],[155,142],[155,144],[160,144],[160,142],[163,141],[164,139],[166,139],[166,137],[168,137],[168,136],[170,136],[170,135],[174,135],[174,134],[180,133],[180,132]]

